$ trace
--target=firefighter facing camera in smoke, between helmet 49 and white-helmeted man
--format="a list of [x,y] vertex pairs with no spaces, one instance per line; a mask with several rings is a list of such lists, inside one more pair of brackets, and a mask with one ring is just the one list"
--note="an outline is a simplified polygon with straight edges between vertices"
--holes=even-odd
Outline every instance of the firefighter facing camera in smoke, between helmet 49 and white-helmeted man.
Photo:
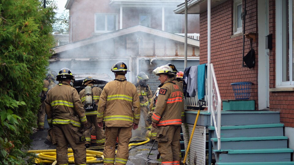
[[147,84],[148,75],[146,75],[144,72],[140,72],[137,75],[137,83],[135,83],[135,86],[137,88],[137,92],[139,94],[140,99],[140,105],[141,105],[141,116],[143,116],[143,121],[145,122],[145,128],[151,129],[151,124],[148,122],[150,121],[150,118],[148,116],[148,105],[150,104],[152,100],[152,91],[150,87]]

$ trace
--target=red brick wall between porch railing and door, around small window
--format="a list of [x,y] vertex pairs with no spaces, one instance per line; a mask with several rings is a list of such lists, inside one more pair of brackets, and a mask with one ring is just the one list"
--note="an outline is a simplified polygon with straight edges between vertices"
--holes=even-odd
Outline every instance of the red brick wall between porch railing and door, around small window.
[[[243,2],[244,3],[244,2]],[[244,8],[244,4],[243,4]],[[257,2],[247,0],[245,33],[257,33]],[[233,1],[224,2],[211,9],[211,62],[217,77],[222,99],[235,99],[233,82],[253,82],[251,98],[258,109],[258,38],[253,42],[255,50],[254,68],[242,67],[243,35],[233,35]],[[200,14],[200,63],[207,63],[207,12]],[[250,40],[245,38],[245,53],[249,51]]]

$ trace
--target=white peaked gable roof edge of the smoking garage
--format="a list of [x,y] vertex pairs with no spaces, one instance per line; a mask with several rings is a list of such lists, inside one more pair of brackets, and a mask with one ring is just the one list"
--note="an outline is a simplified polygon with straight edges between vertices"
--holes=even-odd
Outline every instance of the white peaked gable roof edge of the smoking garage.
[[[115,37],[119,37],[122,35],[127,35],[127,34],[131,34],[131,33],[135,33],[135,32],[145,32],[147,34],[151,34],[151,35],[156,35],[159,37],[163,37],[165,39],[170,39],[176,42],[182,42],[183,44],[185,43],[185,38],[184,36],[181,35],[176,35],[173,33],[168,33],[165,31],[160,31],[160,30],[156,30],[153,28],[148,28],[145,26],[134,26],[134,27],[130,27],[130,28],[125,28],[125,29],[121,29],[121,30],[117,30],[117,31],[112,31],[109,33],[105,33],[102,35],[98,35],[98,36],[94,36],[94,37],[90,37],[88,39],[83,39],[81,41],[77,41],[77,42],[72,42],[63,46],[58,46],[53,48],[53,50],[55,51],[55,53],[61,53],[63,51],[67,51],[67,50],[71,50],[74,48],[78,48],[81,46],[86,46],[95,42],[100,42],[100,41],[104,41],[107,39],[111,39],[111,38],[115,38]],[[193,46],[196,48],[199,48],[199,40],[195,40],[195,39],[187,39],[187,45],[189,46]]]

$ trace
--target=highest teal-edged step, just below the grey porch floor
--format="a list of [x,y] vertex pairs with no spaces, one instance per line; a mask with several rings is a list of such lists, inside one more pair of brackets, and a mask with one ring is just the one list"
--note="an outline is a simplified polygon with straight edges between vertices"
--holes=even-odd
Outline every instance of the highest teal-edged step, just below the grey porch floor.
[[[220,127],[221,138],[234,137],[258,137],[258,136],[283,136],[284,124],[257,124],[243,126],[222,126]],[[209,130],[215,130],[214,127],[208,127]],[[211,138],[217,138],[216,132],[213,131]]]

